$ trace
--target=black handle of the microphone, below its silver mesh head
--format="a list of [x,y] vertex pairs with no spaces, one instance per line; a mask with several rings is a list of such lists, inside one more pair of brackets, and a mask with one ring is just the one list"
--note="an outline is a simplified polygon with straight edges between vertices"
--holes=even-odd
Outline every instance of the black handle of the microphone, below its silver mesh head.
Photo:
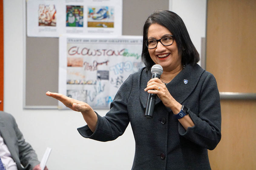
[[[151,79],[153,78],[160,78],[160,74],[153,73]],[[155,100],[156,100],[156,94],[148,93],[148,99],[146,104],[146,111],[145,111],[145,117],[146,118],[152,118],[153,112],[155,108]]]

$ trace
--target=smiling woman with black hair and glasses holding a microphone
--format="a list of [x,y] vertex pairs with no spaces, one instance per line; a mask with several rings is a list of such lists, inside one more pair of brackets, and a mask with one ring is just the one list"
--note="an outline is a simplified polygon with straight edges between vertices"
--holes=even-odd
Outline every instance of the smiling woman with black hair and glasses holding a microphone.
[[[87,103],[46,95],[82,113],[87,125],[78,132],[85,138],[115,140],[131,123],[131,169],[211,169],[208,149],[221,140],[220,95],[214,76],[197,64],[199,54],[177,14],[158,10],[148,17],[141,59],[145,67],[125,80],[104,117]],[[163,68],[160,78],[151,78],[155,64]],[[151,119],[145,117],[148,94],[157,95]]]

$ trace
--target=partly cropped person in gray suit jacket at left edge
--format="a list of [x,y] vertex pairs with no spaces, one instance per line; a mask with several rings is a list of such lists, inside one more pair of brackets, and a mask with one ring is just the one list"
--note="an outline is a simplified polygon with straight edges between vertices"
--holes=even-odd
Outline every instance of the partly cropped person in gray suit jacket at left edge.
[[0,111],[0,158],[6,170],[41,170],[35,150],[23,138],[15,118],[3,111]]

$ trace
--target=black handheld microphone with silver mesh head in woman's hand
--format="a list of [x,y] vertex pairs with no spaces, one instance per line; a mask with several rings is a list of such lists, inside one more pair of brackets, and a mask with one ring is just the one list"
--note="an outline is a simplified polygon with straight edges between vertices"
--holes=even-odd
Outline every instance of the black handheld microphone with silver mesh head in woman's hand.
[[[155,77],[160,79],[160,75],[163,73],[163,67],[159,64],[155,64],[154,66],[151,67],[151,73],[152,73],[151,79]],[[156,98],[156,94],[148,93],[148,100],[147,100],[146,111],[145,111],[146,118],[150,119],[153,117],[153,112],[155,108],[155,98]]]

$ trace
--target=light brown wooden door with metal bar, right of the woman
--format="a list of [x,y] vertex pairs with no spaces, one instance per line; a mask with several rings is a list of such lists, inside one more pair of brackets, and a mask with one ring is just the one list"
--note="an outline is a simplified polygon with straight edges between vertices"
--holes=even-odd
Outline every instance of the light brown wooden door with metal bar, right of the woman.
[[[256,1],[208,0],[206,70],[220,92],[256,93]],[[221,99],[221,141],[211,168],[256,169],[255,99]]]

